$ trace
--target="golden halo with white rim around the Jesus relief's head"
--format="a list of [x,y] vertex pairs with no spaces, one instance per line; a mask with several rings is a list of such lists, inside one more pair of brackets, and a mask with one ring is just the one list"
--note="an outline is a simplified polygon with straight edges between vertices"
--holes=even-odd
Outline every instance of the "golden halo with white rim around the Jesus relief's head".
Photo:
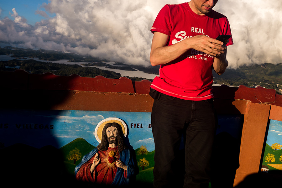
[[123,120],[119,118],[106,118],[100,121],[97,127],[95,128],[95,132],[94,132],[95,138],[99,143],[101,143],[101,140],[102,140],[102,130],[107,123],[118,123],[122,127],[123,135],[127,136],[127,126]]

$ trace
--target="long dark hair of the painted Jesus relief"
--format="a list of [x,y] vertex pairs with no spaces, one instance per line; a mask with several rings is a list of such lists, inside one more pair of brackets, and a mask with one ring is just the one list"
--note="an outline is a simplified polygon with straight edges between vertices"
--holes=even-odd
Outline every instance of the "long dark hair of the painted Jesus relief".
[[98,150],[102,150],[102,151],[106,151],[109,147],[109,143],[108,143],[108,139],[107,139],[107,133],[106,130],[109,127],[115,127],[118,130],[118,134],[117,134],[117,145],[118,145],[118,153],[122,152],[123,149],[126,148],[126,146],[123,143],[123,130],[121,128],[121,126],[118,123],[107,123],[103,130],[102,130],[102,139],[101,139],[101,143],[97,146]]

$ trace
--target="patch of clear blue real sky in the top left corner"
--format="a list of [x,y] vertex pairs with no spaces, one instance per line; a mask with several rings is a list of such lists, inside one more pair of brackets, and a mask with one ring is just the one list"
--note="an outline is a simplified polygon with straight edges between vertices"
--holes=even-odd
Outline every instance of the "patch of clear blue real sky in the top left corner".
[[[1,0],[0,1],[0,18],[4,18],[8,16],[8,18],[12,19],[11,14],[13,13],[12,9],[15,8],[17,13],[20,16],[23,16],[27,19],[27,23],[30,25],[34,25],[35,22],[39,22],[41,19],[46,19],[40,14],[36,14],[37,10],[43,10],[43,3],[48,3],[48,0]],[[55,14],[49,14],[49,16],[55,16]]]

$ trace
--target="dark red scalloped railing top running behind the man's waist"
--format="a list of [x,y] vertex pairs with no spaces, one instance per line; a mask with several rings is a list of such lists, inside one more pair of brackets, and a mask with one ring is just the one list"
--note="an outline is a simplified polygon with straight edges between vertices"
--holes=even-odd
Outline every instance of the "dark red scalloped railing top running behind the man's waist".
[[[24,70],[15,70],[13,72],[0,71],[0,85],[2,88],[20,90],[76,90],[149,94],[151,82],[148,80],[131,81],[126,77],[109,79],[103,76],[95,78],[79,75],[56,76],[49,72],[29,74]],[[282,106],[281,95],[275,94],[274,89],[265,89],[260,86],[257,88],[213,86],[213,93],[214,97],[219,99],[244,99],[253,103],[270,103]]]

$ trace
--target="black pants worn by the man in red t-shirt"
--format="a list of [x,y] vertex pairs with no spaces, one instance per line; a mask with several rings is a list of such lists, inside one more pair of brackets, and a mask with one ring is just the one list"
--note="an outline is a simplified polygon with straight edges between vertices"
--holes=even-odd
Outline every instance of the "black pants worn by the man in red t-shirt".
[[[151,117],[155,142],[154,187],[207,188],[216,131],[213,99],[188,101],[161,94],[154,100]],[[183,158],[180,156],[182,138]],[[181,174],[182,169],[185,175]],[[179,182],[181,176],[184,183]]]

